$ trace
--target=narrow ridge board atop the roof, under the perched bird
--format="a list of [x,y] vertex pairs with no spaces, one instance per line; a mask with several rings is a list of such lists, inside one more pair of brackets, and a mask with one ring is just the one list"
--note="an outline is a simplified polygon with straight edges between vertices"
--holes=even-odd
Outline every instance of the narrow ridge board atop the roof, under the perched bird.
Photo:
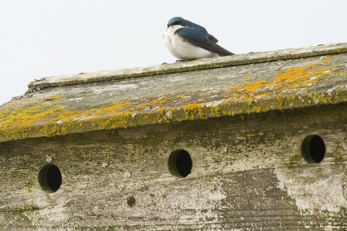
[[285,59],[297,59],[301,57],[311,57],[346,52],[347,43],[331,43],[326,45],[309,46],[302,48],[288,48],[276,51],[254,53],[251,52],[248,54],[215,57],[210,59],[199,59],[189,62],[178,62],[170,64],[163,63],[161,65],[148,67],[125,68],[119,70],[53,76],[35,80],[28,84],[28,88],[37,89],[45,87],[57,87],[80,83],[136,78],[150,75],[202,70],[249,63],[270,62]]

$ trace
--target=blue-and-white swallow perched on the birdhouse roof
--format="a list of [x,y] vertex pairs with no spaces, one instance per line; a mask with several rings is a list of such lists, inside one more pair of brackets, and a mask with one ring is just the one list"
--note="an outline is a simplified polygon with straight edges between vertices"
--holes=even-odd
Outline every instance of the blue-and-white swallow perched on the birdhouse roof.
[[164,43],[178,61],[190,61],[234,53],[217,45],[218,39],[207,30],[181,17],[171,18],[164,34]]

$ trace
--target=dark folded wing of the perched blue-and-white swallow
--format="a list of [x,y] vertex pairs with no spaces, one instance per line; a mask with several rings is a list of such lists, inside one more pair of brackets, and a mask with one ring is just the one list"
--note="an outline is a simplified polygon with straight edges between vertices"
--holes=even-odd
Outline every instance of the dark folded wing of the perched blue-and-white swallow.
[[217,53],[219,56],[234,55],[234,53],[217,45],[218,39],[203,30],[185,27],[176,30],[175,34],[178,34],[187,42],[204,48],[205,50]]

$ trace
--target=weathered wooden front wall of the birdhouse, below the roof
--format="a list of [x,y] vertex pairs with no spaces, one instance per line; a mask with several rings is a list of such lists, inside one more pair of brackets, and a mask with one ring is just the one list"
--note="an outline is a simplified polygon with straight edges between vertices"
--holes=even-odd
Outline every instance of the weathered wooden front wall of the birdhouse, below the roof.
[[[346,230],[346,106],[2,142],[0,224],[47,231]],[[325,142],[319,164],[301,155],[309,134]],[[186,178],[168,169],[176,149],[191,155]],[[38,180],[46,155],[62,175],[55,193]]]

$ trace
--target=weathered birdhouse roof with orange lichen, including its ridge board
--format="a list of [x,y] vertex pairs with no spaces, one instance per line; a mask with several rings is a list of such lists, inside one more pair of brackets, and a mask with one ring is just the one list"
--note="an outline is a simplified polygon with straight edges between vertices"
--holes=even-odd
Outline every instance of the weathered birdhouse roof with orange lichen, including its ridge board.
[[49,77],[0,106],[0,142],[347,101],[347,43]]

